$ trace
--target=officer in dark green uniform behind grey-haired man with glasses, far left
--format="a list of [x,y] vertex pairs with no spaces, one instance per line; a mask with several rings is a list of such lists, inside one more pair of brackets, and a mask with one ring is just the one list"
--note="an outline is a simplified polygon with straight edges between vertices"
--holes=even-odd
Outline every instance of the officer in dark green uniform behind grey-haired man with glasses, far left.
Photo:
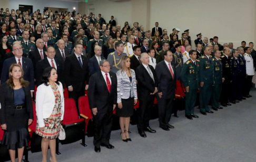
[[34,41],[28,40],[29,31],[24,30],[22,36],[23,36],[23,40],[21,40],[22,50],[23,50],[23,53],[26,53],[28,57],[29,52],[36,49],[36,45]]

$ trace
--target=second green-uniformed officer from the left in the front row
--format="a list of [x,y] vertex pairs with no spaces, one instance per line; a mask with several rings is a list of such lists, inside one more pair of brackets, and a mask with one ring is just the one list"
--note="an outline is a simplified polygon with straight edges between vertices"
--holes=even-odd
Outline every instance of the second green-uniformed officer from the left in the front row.
[[210,47],[203,48],[204,55],[199,58],[199,81],[200,81],[200,112],[203,115],[207,113],[213,113],[210,111],[208,104],[213,93],[214,85],[214,65],[213,60],[210,57],[211,49]]

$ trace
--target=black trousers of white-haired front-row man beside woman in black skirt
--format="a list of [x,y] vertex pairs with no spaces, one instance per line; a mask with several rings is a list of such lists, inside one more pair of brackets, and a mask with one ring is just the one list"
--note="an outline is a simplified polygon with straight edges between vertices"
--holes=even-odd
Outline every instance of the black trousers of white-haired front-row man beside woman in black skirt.
[[146,100],[139,100],[139,102],[140,105],[137,128],[144,130],[145,128],[149,127],[150,116],[152,114],[154,105],[154,95]]

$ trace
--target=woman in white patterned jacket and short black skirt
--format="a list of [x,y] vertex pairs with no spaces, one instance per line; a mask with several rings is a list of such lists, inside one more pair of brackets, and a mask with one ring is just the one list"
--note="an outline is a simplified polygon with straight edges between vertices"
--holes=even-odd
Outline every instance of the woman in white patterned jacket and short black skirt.
[[128,56],[121,58],[120,70],[117,78],[116,116],[120,116],[121,136],[124,142],[132,141],[129,137],[130,117],[133,115],[134,105],[137,103],[136,78],[133,69],[130,69],[131,60]]

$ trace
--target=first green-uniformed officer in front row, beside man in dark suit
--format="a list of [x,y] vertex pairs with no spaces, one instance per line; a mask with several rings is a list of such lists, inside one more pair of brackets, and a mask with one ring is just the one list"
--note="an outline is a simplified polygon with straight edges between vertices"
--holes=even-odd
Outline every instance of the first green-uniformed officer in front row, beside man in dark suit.
[[194,106],[196,93],[199,88],[199,60],[196,60],[195,50],[190,50],[189,56],[190,59],[184,63],[184,67],[182,68],[181,79],[186,89],[185,116],[193,120],[193,117],[198,118],[197,115],[194,115]]

